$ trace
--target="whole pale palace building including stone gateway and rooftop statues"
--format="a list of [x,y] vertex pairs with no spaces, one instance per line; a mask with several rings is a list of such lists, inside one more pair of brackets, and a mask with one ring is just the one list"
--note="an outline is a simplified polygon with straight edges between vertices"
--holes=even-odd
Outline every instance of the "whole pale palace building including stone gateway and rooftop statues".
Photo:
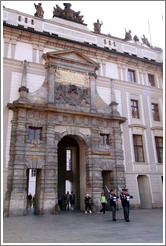
[[106,187],[128,188],[132,208],[162,207],[162,49],[129,27],[103,34],[99,19],[90,31],[69,3],[51,19],[35,8],[3,7],[4,216],[28,214],[31,180],[37,215],[57,214],[67,191],[98,211]]

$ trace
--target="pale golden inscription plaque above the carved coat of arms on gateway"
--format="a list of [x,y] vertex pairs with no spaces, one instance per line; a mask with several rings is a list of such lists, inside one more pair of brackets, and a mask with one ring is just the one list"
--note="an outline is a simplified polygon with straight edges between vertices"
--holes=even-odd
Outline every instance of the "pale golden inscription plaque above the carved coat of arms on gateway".
[[85,73],[62,68],[58,69],[57,73],[57,82],[59,83],[89,87],[89,78]]

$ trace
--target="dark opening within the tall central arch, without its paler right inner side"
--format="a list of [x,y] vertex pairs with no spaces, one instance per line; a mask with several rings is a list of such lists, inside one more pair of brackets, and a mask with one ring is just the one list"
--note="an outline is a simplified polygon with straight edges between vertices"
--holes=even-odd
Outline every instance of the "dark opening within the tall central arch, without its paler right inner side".
[[58,144],[58,196],[62,197],[62,207],[65,209],[64,196],[69,191],[76,196],[75,209],[80,209],[80,151],[74,136],[62,138]]

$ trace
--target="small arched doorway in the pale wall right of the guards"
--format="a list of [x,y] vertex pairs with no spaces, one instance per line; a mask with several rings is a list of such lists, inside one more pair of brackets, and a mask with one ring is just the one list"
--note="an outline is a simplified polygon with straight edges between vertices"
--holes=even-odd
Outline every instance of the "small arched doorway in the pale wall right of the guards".
[[139,175],[137,180],[141,208],[152,208],[149,178],[146,175]]

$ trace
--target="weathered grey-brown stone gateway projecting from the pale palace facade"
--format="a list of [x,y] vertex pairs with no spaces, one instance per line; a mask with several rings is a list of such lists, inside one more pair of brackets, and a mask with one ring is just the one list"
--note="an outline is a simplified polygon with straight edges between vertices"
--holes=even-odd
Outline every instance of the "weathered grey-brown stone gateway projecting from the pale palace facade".
[[[36,214],[53,213],[58,194],[65,194],[66,180],[72,182],[76,206],[81,210],[86,193],[92,194],[96,209],[100,206],[103,179],[106,183],[111,180],[115,189],[125,186],[120,130],[125,118],[117,112],[115,104],[106,105],[98,95],[98,64],[71,50],[47,52],[43,58],[46,76],[42,88],[31,95],[24,79],[23,96],[20,89],[20,98],[8,104],[14,118],[6,215],[26,214],[29,168],[37,169]],[[25,61],[24,78],[26,64]],[[78,86],[79,76],[82,82]],[[28,138],[32,128],[42,131],[38,142]],[[100,145],[104,134],[109,138],[107,146]],[[68,148],[73,155],[69,171],[64,165]]]

